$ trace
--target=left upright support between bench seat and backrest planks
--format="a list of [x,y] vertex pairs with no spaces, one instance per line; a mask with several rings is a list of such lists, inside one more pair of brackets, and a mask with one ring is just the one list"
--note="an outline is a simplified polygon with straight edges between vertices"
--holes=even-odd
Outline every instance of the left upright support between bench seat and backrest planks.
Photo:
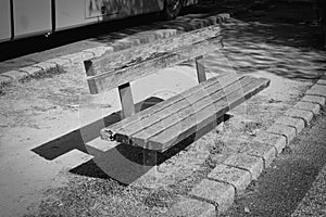
[[118,86],[118,94],[122,106],[122,119],[135,114],[135,104],[133,100],[133,93],[130,84],[124,84]]

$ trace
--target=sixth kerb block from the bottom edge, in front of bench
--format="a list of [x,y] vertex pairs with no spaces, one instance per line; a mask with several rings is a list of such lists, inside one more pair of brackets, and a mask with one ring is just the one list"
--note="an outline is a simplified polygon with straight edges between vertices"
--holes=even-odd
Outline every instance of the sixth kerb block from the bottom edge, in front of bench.
[[252,140],[253,142],[261,142],[269,144],[276,149],[276,154],[280,154],[283,149],[287,145],[287,140],[284,136],[271,133],[267,131],[260,131]]

